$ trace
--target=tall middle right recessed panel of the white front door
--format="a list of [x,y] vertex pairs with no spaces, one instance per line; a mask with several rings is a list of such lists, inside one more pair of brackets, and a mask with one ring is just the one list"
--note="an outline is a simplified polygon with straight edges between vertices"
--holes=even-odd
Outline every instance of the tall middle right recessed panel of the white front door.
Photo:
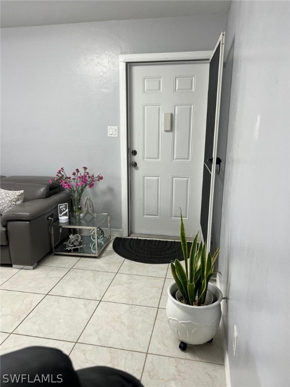
[[173,161],[190,162],[194,105],[174,105]]

